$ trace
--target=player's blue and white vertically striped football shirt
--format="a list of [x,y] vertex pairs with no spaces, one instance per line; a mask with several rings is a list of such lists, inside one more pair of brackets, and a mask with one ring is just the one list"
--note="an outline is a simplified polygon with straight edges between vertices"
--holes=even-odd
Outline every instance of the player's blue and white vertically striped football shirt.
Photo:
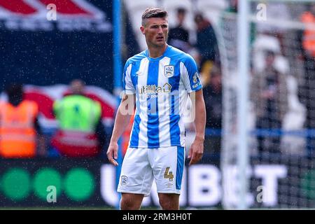
[[127,60],[123,87],[136,94],[130,148],[185,146],[188,92],[202,88],[193,57],[170,45],[158,58],[145,50]]

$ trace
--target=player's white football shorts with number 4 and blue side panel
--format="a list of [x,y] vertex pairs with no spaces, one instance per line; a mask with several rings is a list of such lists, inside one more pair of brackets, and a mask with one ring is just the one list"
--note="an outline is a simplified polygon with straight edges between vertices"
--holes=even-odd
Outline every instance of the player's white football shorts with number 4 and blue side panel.
[[148,196],[153,179],[158,193],[181,193],[185,148],[128,148],[123,160],[118,192]]

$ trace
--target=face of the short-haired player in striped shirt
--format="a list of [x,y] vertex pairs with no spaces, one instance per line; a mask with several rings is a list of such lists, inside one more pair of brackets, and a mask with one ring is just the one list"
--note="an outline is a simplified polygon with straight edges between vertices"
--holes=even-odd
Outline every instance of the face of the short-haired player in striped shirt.
[[149,18],[146,25],[141,27],[148,45],[161,47],[166,44],[169,26],[167,18]]

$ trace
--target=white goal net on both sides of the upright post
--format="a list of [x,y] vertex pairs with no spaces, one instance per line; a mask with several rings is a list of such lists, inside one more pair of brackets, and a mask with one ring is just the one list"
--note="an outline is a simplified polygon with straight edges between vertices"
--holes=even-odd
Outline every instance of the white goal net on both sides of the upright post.
[[[248,1],[248,83],[239,83],[237,8],[221,15],[223,207],[315,208],[315,1]],[[239,91],[248,89],[246,124]],[[243,115],[244,116],[244,115]],[[239,173],[239,125],[246,175]],[[246,179],[246,184],[241,184]],[[239,197],[241,189],[246,197]]]

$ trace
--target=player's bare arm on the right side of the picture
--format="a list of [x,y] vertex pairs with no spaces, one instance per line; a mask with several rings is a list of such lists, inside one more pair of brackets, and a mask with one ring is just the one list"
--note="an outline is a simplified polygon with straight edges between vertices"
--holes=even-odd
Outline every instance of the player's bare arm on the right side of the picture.
[[190,146],[188,159],[189,165],[193,165],[202,159],[204,154],[204,130],[206,126],[206,106],[204,105],[204,97],[202,89],[190,92],[190,99],[193,102],[193,113],[195,114],[196,137]]

